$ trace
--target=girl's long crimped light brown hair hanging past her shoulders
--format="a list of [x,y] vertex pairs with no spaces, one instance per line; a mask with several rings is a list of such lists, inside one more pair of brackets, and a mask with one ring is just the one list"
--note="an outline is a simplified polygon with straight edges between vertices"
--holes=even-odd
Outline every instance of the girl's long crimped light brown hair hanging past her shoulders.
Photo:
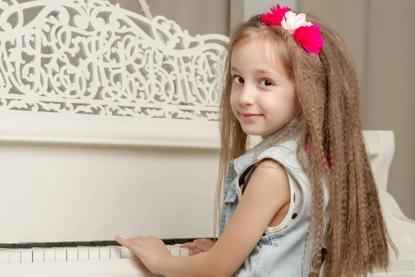
[[[234,28],[225,61],[221,94],[221,155],[216,187],[215,234],[221,216],[221,193],[228,164],[246,152],[247,135],[230,107],[232,75],[230,62],[235,47],[252,39],[272,43],[282,66],[295,82],[299,112],[295,125],[286,127],[272,143],[293,128],[300,129],[297,154],[312,184],[311,223],[307,244],[311,251],[307,267],[322,264],[324,197],[322,179],[329,186],[331,220],[324,276],[366,276],[374,269],[387,269],[388,244],[396,251],[380,210],[378,191],[362,136],[360,87],[353,60],[334,30],[315,17],[307,21],[320,25],[324,39],[320,55],[304,51],[287,30],[266,26],[261,15]],[[307,145],[307,157],[299,153]],[[328,159],[331,173],[326,166]],[[307,161],[306,161],[307,160]],[[307,163],[308,166],[304,166]],[[304,252],[304,253],[306,253]]]

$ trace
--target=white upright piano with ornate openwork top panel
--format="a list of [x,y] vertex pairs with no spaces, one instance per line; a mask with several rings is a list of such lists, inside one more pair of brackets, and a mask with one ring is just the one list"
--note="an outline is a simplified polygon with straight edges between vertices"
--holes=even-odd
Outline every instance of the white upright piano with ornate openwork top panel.
[[[0,1],[1,277],[151,276],[114,235],[177,256],[213,237],[227,42],[106,0]],[[365,137],[400,249],[374,276],[415,276],[414,221],[387,193],[393,133]]]

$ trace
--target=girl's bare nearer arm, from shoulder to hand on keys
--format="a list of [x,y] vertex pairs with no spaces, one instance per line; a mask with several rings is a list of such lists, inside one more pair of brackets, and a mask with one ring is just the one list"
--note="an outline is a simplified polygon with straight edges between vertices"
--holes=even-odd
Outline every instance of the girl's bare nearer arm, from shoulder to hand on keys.
[[190,257],[171,256],[156,238],[116,240],[134,251],[155,274],[231,276],[254,249],[274,215],[290,201],[286,171],[267,159],[255,168],[228,226],[210,251]]

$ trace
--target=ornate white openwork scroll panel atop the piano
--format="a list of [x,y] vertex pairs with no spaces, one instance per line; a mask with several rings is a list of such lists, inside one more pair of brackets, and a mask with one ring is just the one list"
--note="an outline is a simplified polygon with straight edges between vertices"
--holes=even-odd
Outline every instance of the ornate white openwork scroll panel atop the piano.
[[3,0],[0,110],[217,120],[227,43],[106,0]]

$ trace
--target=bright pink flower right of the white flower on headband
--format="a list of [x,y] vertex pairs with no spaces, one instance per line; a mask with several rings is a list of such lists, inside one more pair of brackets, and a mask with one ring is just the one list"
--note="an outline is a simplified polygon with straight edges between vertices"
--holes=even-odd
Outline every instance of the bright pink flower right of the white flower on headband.
[[324,40],[320,35],[320,26],[301,26],[293,33],[297,44],[302,45],[306,51],[314,52],[318,55],[324,44]]

